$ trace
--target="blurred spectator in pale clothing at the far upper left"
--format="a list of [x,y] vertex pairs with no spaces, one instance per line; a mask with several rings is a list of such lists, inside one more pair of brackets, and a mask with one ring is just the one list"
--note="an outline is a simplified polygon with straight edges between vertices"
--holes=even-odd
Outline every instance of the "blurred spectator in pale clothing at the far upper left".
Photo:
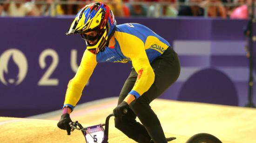
[[6,0],[3,8],[7,16],[22,17],[26,16],[30,8],[25,4],[26,0]]

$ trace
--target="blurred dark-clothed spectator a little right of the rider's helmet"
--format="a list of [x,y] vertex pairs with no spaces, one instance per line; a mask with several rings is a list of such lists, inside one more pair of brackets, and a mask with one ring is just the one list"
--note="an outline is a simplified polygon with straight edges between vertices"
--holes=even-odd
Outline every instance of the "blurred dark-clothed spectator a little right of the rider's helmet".
[[[143,0],[133,0],[134,2],[141,2]],[[147,16],[148,7],[143,4],[128,4],[130,16]]]

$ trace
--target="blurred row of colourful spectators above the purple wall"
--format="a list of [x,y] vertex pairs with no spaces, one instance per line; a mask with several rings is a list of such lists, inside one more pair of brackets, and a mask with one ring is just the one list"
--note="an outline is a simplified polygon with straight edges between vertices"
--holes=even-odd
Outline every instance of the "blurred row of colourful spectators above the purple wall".
[[74,15],[98,1],[108,4],[116,17],[247,19],[251,9],[251,0],[0,0],[0,16]]

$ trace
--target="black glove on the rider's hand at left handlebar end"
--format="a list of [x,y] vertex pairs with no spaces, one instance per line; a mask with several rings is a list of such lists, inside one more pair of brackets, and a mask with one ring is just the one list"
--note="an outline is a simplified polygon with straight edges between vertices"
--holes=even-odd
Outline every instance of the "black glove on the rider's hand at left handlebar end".
[[69,117],[69,114],[63,114],[61,115],[61,119],[58,122],[57,126],[62,130],[67,130],[67,135],[70,135],[71,127],[69,123],[72,122],[71,118]]

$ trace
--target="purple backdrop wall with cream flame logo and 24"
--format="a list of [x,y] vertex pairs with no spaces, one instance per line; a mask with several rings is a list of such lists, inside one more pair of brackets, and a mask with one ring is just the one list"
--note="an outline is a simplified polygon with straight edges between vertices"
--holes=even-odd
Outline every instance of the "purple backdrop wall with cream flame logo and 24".
[[[26,117],[61,109],[67,83],[86,48],[79,35],[66,36],[72,20],[0,18],[0,116]],[[249,60],[243,35],[246,20],[117,22],[148,26],[179,54],[180,78],[161,98],[236,106],[247,103]],[[119,96],[130,71],[131,64],[98,64],[79,104]]]

